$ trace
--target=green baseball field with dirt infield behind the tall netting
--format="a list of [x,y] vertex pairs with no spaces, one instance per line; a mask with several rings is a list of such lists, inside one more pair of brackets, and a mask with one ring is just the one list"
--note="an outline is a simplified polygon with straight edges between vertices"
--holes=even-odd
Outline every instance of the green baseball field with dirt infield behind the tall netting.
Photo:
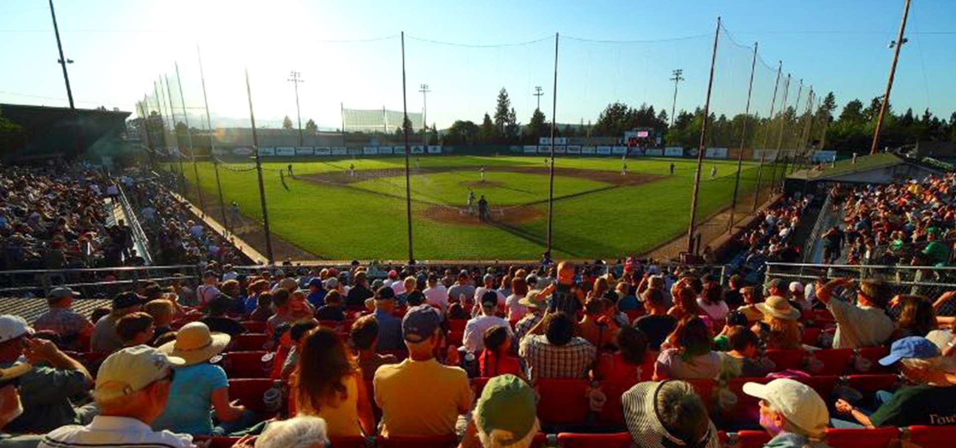
[[[293,176],[288,173],[290,163]],[[219,197],[212,162],[197,162],[198,182],[189,166],[192,162],[185,160],[184,164],[190,188],[199,184],[207,209],[219,218],[219,212],[213,211]],[[167,165],[167,169],[178,171],[177,165]],[[688,159],[556,159],[554,256],[638,254],[684,234],[695,165],[696,160]],[[716,168],[716,173],[711,168]],[[548,228],[548,169],[544,157],[534,156],[412,157],[415,258],[540,258]],[[218,171],[227,208],[235,202],[244,221],[261,222],[253,165],[247,161],[219,163]],[[705,160],[698,220],[729,205],[735,173],[735,160]],[[769,175],[765,169],[765,184]],[[316,259],[407,258],[402,157],[267,161],[263,177],[272,233],[285,242]],[[756,179],[756,164],[745,162],[738,195],[751,192]],[[469,192],[475,199],[471,207],[467,205]],[[195,190],[189,196],[199,204]],[[486,222],[480,221],[477,213],[476,203],[483,196],[489,204]],[[240,235],[260,231],[246,227]],[[247,240],[251,243],[254,238]]]

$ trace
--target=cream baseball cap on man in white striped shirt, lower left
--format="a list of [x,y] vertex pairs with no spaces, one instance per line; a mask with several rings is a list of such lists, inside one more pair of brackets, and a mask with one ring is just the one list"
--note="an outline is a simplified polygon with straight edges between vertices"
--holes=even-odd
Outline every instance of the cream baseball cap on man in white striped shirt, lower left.
[[99,366],[93,396],[110,400],[130,395],[163,379],[173,367],[185,366],[185,359],[168,356],[152,347],[127,347],[109,355]]

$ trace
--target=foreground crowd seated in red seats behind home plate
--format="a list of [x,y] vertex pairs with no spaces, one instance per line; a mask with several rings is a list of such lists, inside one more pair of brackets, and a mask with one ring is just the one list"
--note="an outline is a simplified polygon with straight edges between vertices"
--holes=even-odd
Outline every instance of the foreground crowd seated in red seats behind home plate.
[[[789,225],[780,223],[798,208],[772,213],[772,226]],[[893,296],[876,280],[755,285],[733,276],[725,284],[706,271],[635,260],[207,266],[195,288],[120,293],[94,322],[71,310],[76,292],[67,288],[50,294],[51,310],[32,327],[0,316],[0,373],[20,375],[18,394],[0,394],[19,404],[0,410],[22,408],[0,418],[0,441],[192,446],[194,437],[232,435],[246,436],[241,446],[278,448],[301,437],[457,436],[463,447],[524,448],[554,429],[535,415],[534,393],[552,379],[588,382],[593,416],[609,399],[604,385],[633,385],[614,398],[638,446],[718,446],[717,429],[760,428],[773,437],[768,446],[826,446],[828,427],[940,425],[956,414],[956,339],[939,330],[951,322],[928,299]],[[823,324],[821,312],[830,317]],[[276,382],[263,400],[278,403],[274,419],[229,395],[222,355],[250,321],[266,332],[266,374]],[[821,335],[808,339],[810,330]],[[854,401],[799,381],[818,369],[815,352],[878,347],[888,352],[880,364],[899,366],[910,385]],[[105,356],[95,375],[75,354],[87,351]],[[771,351],[806,353],[808,362],[781,372]],[[779,379],[743,389],[760,400],[753,415],[708,412],[711,400],[718,410],[733,400],[692,387],[765,376]],[[487,379],[477,399],[471,378]]]

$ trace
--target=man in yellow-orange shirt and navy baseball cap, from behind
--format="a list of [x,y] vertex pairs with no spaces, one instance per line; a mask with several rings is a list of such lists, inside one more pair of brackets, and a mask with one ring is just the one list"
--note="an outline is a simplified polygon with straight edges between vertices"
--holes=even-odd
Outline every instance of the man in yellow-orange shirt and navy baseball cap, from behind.
[[467,373],[439,364],[432,354],[442,342],[441,322],[439,311],[428,305],[405,313],[402,337],[408,358],[375,373],[383,436],[453,435],[458,416],[471,409]]

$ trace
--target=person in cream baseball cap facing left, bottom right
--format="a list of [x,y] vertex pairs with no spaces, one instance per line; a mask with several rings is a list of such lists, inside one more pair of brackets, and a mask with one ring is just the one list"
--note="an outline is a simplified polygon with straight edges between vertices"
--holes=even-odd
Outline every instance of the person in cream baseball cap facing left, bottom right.
[[760,426],[771,435],[766,447],[829,448],[823,441],[830,412],[813,388],[790,378],[745,383],[744,394],[760,398]]

